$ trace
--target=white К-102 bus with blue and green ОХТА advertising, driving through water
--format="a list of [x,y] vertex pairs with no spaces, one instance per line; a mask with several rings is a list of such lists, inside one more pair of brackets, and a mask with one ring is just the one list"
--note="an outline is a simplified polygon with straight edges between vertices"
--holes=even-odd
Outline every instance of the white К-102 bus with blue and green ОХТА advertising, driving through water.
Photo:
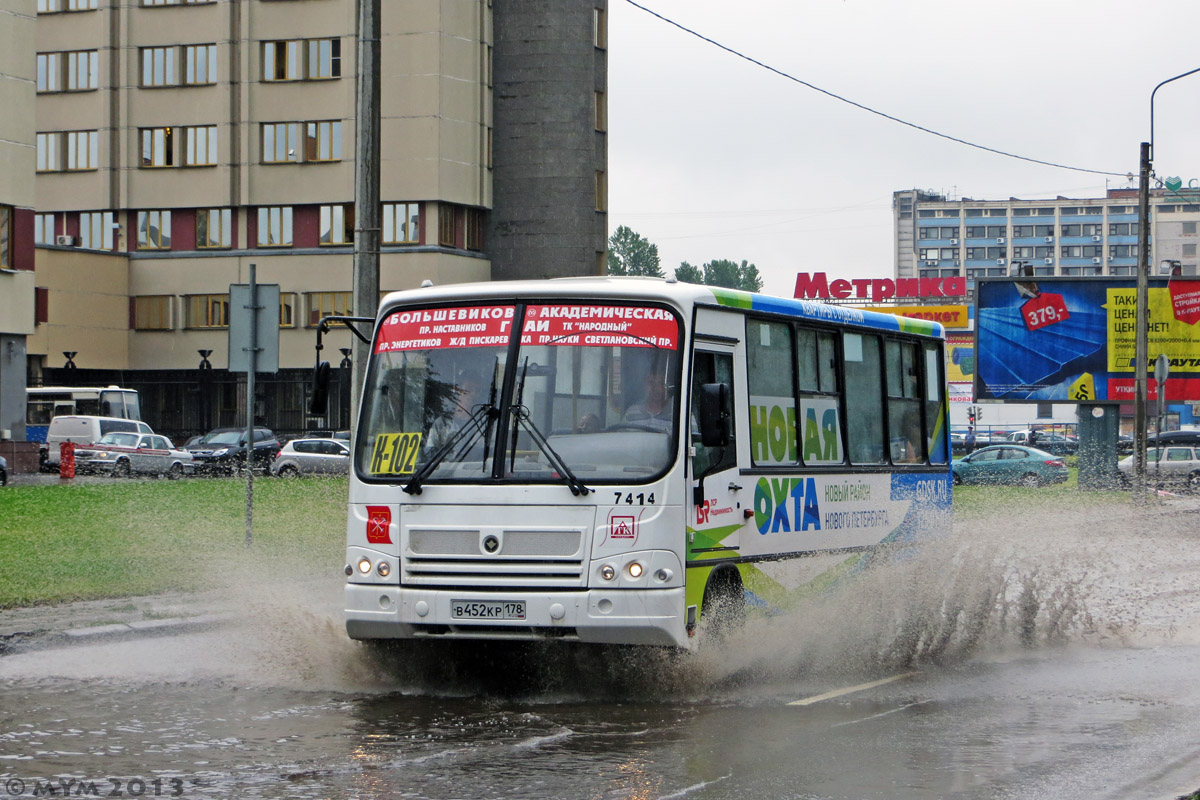
[[653,278],[421,288],[374,323],[352,638],[690,648],[949,524],[936,323]]

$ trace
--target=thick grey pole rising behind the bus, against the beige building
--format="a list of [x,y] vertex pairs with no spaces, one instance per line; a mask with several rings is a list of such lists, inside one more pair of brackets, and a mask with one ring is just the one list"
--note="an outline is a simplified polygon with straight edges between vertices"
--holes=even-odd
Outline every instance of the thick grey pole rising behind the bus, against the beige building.
[[[379,307],[379,20],[382,0],[358,0],[359,47],[354,137],[354,308],[374,317]],[[359,393],[366,378],[371,348],[353,338],[350,429],[355,427]]]

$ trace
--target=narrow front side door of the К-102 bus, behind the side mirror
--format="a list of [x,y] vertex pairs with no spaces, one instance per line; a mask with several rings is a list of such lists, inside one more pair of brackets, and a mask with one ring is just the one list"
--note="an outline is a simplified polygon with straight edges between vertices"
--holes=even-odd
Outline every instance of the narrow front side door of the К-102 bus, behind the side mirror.
[[[737,411],[744,399],[744,372],[740,338],[745,321],[740,314],[700,309],[691,363],[691,409],[689,410],[691,516],[688,529],[688,563],[738,558],[742,531],[752,525],[754,485],[739,475],[738,427],[745,414]],[[700,396],[704,384],[730,387],[730,441],[724,447],[707,447],[700,438]],[[746,516],[750,512],[750,516]],[[689,581],[690,583],[690,581]]]

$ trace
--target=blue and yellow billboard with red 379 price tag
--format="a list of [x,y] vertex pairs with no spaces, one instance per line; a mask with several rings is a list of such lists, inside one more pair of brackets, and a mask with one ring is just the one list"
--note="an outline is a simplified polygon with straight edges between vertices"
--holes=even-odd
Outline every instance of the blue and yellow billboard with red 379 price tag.
[[[1134,278],[980,281],[976,397],[1091,403],[1134,399]],[[1165,354],[1166,402],[1200,399],[1200,281],[1151,281],[1147,374]],[[1148,397],[1158,387],[1148,380]]]

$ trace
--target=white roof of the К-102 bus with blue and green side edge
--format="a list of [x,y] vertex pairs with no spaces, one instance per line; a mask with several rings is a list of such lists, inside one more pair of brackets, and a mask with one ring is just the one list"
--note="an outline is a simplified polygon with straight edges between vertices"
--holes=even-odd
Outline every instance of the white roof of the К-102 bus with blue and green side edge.
[[690,303],[760,311],[782,314],[797,319],[809,319],[840,325],[859,325],[882,331],[898,331],[917,336],[943,337],[941,323],[884,314],[865,308],[852,308],[811,300],[793,300],[772,295],[724,289],[696,283],[684,283],[672,278],[606,276],[550,278],[544,281],[492,281],[488,283],[454,283],[440,287],[392,291],[383,299],[380,311],[394,303],[452,302],[482,297],[548,296],[594,300],[614,297],[623,300],[667,300],[679,306]]

